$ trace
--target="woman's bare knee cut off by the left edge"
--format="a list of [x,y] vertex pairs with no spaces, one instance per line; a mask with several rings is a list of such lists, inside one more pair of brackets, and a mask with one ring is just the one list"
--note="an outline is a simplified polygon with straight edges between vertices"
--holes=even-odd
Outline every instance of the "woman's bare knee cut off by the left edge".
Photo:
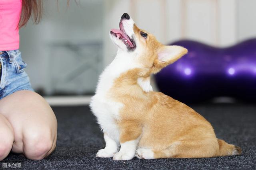
[[0,161],[6,158],[6,156],[10,153],[13,140],[13,135],[5,135],[4,140],[0,140]]

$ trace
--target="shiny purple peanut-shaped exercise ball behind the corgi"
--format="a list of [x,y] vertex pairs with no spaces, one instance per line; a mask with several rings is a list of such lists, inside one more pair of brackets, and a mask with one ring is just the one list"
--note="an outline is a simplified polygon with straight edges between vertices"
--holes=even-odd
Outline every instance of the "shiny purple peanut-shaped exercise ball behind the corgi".
[[256,101],[256,39],[227,48],[177,41],[188,54],[156,74],[161,92],[185,103],[228,96]]

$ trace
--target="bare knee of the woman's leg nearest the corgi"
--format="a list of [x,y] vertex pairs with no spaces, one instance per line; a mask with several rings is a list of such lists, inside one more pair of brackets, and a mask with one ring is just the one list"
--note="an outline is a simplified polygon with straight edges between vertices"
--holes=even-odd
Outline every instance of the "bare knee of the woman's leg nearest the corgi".
[[54,139],[51,135],[47,135],[47,133],[34,137],[26,137],[26,141],[23,141],[26,158],[33,160],[45,158],[54,146]]

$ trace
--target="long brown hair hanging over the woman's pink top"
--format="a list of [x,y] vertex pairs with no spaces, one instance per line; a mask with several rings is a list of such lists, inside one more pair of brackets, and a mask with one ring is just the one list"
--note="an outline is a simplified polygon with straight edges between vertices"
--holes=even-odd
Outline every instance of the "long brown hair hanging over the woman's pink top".
[[42,0],[22,0],[19,28],[26,25],[31,16],[34,23],[38,24],[42,18],[42,8]]

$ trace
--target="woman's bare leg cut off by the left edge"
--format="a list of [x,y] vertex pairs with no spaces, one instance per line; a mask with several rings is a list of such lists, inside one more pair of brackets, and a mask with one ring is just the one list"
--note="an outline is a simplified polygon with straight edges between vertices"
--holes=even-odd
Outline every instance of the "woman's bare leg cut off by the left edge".
[[11,151],[14,141],[14,133],[11,124],[0,114],[0,161]]

